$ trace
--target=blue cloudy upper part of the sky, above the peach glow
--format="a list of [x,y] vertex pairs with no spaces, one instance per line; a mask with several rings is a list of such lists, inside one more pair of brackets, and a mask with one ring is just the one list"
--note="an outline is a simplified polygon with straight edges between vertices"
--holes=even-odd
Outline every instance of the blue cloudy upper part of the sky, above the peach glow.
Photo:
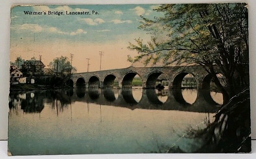
[[[141,17],[153,18],[157,5],[41,5],[11,9],[11,38],[28,40],[36,34],[40,40],[84,40],[104,43],[120,35],[141,32]],[[25,15],[24,11],[98,11],[98,15]],[[78,35],[78,36],[77,36]],[[51,39],[49,39],[51,38]],[[33,39],[33,38],[32,38]]]

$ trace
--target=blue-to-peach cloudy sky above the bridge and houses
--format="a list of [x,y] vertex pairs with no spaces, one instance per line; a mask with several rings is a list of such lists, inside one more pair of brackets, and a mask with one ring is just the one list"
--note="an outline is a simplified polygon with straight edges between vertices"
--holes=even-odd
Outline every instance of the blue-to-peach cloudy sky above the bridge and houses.
[[[53,58],[74,54],[77,72],[98,71],[99,51],[104,52],[101,70],[131,66],[127,55],[136,51],[127,47],[134,38],[150,40],[150,35],[138,29],[142,18],[161,16],[153,9],[158,5],[33,5],[11,8],[10,60],[19,56],[39,58],[47,66]],[[98,14],[92,14],[92,11]],[[24,11],[46,12],[47,15],[25,15]],[[48,15],[48,11],[89,12],[91,15]]]

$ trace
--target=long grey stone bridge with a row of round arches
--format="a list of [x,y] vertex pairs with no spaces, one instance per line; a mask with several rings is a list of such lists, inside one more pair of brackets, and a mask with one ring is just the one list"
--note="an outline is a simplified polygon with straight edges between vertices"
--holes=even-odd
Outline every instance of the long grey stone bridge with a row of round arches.
[[209,89],[211,75],[202,66],[186,67],[128,67],[124,69],[111,69],[94,72],[72,74],[67,85],[86,88],[112,88],[117,79],[119,88],[132,88],[135,75],[142,79],[143,88],[155,88],[155,83],[160,75],[167,78],[169,88],[181,88],[182,79],[187,74],[192,74],[196,79],[198,89]]

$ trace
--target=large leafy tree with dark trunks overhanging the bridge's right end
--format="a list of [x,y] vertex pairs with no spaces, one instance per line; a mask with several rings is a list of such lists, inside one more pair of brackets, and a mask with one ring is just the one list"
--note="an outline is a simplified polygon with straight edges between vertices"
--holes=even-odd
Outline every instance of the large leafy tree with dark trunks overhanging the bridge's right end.
[[[128,48],[137,50],[136,62],[165,65],[201,65],[212,75],[213,81],[223,94],[224,103],[249,86],[248,9],[245,3],[226,4],[166,4],[157,12],[162,17],[147,19],[139,29],[151,34],[147,44],[135,39]],[[219,68],[221,72],[217,72]],[[222,73],[227,81],[224,88],[216,74]]]

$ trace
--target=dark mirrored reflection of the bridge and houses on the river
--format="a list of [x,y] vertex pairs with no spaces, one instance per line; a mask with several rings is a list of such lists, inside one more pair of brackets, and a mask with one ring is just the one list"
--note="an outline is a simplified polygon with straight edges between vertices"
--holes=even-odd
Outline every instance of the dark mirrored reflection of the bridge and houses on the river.
[[24,112],[41,112],[45,103],[55,105],[59,102],[59,107],[63,109],[74,102],[84,102],[126,107],[132,110],[151,109],[213,113],[218,110],[219,107],[217,106],[221,104],[221,99],[215,100],[219,101],[216,103],[207,92],[208,90],[203,89],[156,90],[141,88],[35,90],[26,93],[11,92],[9,107],[16,108],[17,102],[20,102]]

